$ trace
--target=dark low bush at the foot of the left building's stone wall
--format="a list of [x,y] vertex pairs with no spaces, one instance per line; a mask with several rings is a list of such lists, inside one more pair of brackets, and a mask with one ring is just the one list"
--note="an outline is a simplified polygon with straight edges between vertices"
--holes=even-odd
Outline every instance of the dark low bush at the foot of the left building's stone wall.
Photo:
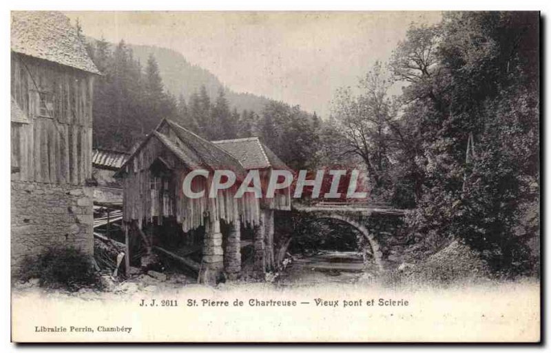
[[38,256],[28,256],[20,272],[22,281],[39,279],[41,287],[65,289],[101,288],[90,256],[74,248],[48,248]]

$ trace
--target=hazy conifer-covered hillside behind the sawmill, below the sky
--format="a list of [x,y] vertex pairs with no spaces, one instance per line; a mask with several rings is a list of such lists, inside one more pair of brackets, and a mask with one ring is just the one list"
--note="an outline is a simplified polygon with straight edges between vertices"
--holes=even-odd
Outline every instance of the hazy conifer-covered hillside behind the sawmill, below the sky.
[[[318,139],[320,128],[320,119],[315,114],[252,94],[232,93],[207,71],[190,70],[191,65],[182,61],[179,54],[175,54],[174,63],[166,55],[169,50],[160,50],[164,53],[161,64],[170,67],[165,72],[169,72],[173,85],[174,77],[183,77],[187,71],[198,77],[191,80],[197,86],[190,83],[194,90],[188,96],[176,96],[167,89],[154,53],[140,60],[124,41],[116,46],[103,40],[86,43],[94,63],[103,72],[94,83],[95,147],[129,151],[161,119],[167,118],[209,140],[258,136],[291,167],[311,165],[316,148],[313,141]],[[182,72],[177,65],[182,65]],[[229,97],[238,97],[242,106],[253,108],[240,110]],[[256,103],[244,103],[251,97]]]

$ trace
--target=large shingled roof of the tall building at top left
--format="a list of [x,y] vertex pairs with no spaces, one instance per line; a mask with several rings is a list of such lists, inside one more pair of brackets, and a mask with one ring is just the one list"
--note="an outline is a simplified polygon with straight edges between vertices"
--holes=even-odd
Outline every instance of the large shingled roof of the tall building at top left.
[[100,74],[61,12],[13,11],[12,51]]

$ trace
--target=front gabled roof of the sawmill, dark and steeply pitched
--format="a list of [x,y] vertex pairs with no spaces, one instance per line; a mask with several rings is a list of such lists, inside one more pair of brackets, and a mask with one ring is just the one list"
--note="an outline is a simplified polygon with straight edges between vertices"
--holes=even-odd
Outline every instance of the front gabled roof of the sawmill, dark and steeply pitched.
[[[170,138],[163,131],[164,125],[168,125],[170,130],[176,134],[177,138]],[[165,147],[174,153],[180,161],[188,168],[207,168],[209,170],[232,170],[236,177],[242,180],[247,174],[247,170],[236,157],[211,143],[193,132],[181,127],[174,121],[163,120],[158,127],[141,143],[127,161],[121,166],[125,166],[136,154],[147,145],[147,141],[155,137]]]

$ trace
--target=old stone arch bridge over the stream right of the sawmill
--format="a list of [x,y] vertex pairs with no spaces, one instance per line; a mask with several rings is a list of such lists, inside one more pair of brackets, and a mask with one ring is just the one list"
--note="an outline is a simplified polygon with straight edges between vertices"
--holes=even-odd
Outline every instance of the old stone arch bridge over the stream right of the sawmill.
[[336,219],[360,232],[379,270],[395,268],[402,263],[404,248],[410,245],[403,232],[404,210],[362,203],[320,202],[313,205],[293,203],[293,210],[315,219]]

